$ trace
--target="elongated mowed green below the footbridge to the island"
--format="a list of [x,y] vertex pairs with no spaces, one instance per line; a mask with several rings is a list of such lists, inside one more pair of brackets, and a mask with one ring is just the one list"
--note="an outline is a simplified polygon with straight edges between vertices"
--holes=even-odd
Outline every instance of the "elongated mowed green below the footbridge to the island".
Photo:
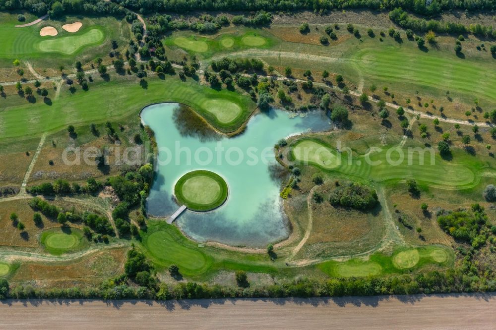
[[177,264],[188,270],[198,270],[205,266],[206,260],[202,253],[178,244],[166,231],[152,233],[145,244],[152,256],[160,261]]

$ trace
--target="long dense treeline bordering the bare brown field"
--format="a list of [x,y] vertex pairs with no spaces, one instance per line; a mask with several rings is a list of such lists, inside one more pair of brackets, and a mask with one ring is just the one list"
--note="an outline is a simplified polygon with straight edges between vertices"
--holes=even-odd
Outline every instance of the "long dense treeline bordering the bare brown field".
[[[139,262],[139,260],[137,260]],[[137,269],[146,268],[139,264]],[[146,272],[148,271],[140,271]],[[136,273],[139,274],[139,272]],[[148,275],[144,274],[143,275]],[[143,276],[148,278],[147,276]],[[141,279],[140,279],[141,280]],[[126,276],[104,282],[99,288],[80,289],[34,288],[17,285],[5,290],[6,281],[0,282],[0,299],[10,298],[103,298],[103,299],[195,299],[195,298],[267,298],[267,297],[326,297],[326,296],[371,296],[384,294],[417,294],[449,292],[482,292],[496,289],[494,281],[487,281],[461,272],[449,270],[445,273],[433,271],[419,275],[390,277],[350,277],[317,280],[299,278],[282,281],[266,287],[226,287],[220,285],[179,282],[175,285],[156,283],[148,285],[127,284]],[[4,283],[5,282],[5,283]],[[146,283],[144,283],[146,284]],[[151,285],[150,285],[151,284]],[[3,288],[3,290],[2,290]]]

